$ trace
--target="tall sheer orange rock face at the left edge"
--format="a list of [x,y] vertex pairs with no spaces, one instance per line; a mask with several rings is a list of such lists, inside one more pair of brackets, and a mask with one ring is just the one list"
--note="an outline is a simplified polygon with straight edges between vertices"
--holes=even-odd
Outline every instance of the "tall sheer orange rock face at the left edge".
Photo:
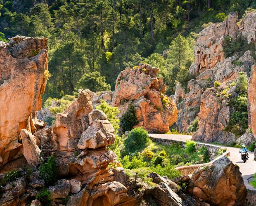
[[[13,37],[0,42],[0,165],[20,157],[21,129],[42,127],[41,109],[48,66],[47,38]],[[40,123],[40,124],[37,124]]]

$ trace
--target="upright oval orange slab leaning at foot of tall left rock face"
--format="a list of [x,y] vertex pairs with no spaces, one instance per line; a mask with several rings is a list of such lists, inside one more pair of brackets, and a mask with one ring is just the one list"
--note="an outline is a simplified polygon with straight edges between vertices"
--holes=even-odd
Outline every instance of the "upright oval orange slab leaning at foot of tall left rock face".
[[26,129],[21,129],[22,153],[31,166],[36,166],[40,160],[40,152],[36,138]]

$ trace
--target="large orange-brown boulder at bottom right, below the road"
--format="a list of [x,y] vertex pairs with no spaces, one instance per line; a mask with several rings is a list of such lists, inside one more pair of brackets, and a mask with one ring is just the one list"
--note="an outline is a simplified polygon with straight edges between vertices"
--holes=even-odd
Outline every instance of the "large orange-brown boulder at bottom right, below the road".
[[189,192],[210,205],[219,206],[243,205],[247,195],[239,168],[227,157],[195,171]]

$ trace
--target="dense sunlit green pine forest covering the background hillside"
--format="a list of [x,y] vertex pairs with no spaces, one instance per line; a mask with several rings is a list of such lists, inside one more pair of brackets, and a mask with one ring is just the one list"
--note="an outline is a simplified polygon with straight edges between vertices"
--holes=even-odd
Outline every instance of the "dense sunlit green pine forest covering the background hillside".
[[[173,94],[192,77],[197,33],[256,8],[254,0],[0,0],[0,40],[15,35],[49,38],[49,81],[44,101],[77,89],[113,90],[117,75],[140,62],[160,68]],[[162,53],[169,49],[164,58]]]

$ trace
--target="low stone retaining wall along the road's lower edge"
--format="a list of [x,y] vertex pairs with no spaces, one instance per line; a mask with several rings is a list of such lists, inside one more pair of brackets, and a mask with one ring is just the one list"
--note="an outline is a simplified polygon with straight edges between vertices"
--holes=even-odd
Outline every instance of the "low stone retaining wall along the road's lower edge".
[[[154,142],[157,142],[159,144],[162,145],[172,145],[172,144],[180,144],[180,145],[184,145],[185,141],[177,141],[177,140],[171,140],[171,139],[162,139],[162,138],[153,138],[150,137],[151,140],[153,140]],[[214,161],[216,161],[217,159],[223,157],[223,156],[229,156],[230,152],[227,151],[225,152],[223,155],[216,157],[216,154],[218,154],[218,150],[222,147],[219,146],[215,146],[215,145],[206,145],[204,143],[197,143],[196,148],[201,147],[202,145],[206,146],[209,153],[210,153],[210,160],[211,162],[209,163],[204,163],[204,164],[193,164],[193,165],[188,165],[188,166],[180,166],[180,167],[175,167],[176,170],[181,171],[182,175],[191,175],[192,173],[194,173],[194,171],[196,171],[198,168],[203,167],[203,166],[207,166],[209,164],[212,164]]]

